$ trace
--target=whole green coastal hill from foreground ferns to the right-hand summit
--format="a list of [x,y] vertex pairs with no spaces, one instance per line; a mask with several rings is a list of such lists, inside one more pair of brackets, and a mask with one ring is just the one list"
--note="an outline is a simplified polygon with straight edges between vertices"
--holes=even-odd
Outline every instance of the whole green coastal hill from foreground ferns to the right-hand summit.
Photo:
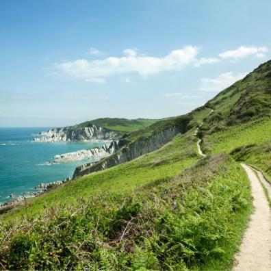
[[178,128],[156,151],[2,214],[0,269],[229,270],[253,209],[239,162],[270,177],[270,74],[269,61],[203,107],[122,138],[136,144]]

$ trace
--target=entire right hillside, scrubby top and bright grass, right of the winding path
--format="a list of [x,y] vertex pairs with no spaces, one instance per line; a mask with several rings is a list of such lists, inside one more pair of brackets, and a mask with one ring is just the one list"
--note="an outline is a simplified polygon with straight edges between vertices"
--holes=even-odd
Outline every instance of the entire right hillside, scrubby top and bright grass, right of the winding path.
[[207,105],[214,112],[201,129],[209,154],[231,153],[271,175],[271,61],[220,92]]

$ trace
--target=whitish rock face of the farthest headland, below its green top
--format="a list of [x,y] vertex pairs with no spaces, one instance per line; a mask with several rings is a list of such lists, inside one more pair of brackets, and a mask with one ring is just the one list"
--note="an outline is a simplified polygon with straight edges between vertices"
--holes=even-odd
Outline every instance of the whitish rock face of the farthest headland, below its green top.
[[92,125],[91,127],[73,128],[60,127],[49,131],[42,131],[41,138],[34,138],[36,142],[67,142],[85,140],[118,140],[120,134],[104,127]]

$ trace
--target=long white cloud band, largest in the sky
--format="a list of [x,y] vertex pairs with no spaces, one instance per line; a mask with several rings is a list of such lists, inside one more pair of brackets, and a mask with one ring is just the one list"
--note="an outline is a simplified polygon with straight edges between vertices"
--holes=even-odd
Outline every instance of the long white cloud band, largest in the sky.
[[75,60],[56,63],[55,73],[83,79],[94,83],[104,83],[107,77],[114,75],[154,75],[168,70],[180,70],[183,66],[194,62],[198,48],[183,47],[171,51],[164,57],[139,55],[135,49],[126,49],[121,57],[107,57],[103,60]]

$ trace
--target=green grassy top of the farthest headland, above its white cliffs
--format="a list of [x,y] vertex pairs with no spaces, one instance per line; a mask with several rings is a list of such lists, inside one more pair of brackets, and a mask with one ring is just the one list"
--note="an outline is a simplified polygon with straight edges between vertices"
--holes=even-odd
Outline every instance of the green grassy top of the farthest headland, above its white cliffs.
[[157,121],[159,120],[149,118],[137,118],[135,120],[129,120],[127,118],[97,118],[96,120],[82,122],[79,125],[75,125],[75,127],[83,128],[94,124],[96,126],[105,127],[109,130],[119,131],[121,133],[130,133],[153,125],[153,123]]

